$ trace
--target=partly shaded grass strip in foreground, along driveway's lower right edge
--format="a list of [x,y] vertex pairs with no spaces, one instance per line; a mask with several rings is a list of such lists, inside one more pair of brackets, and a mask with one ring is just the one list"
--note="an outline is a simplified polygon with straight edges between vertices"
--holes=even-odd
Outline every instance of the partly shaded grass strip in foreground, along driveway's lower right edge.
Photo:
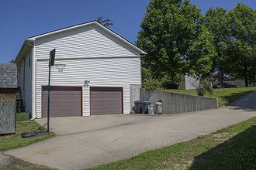
[[256,117],[169,147],[89,169],[255,169]]

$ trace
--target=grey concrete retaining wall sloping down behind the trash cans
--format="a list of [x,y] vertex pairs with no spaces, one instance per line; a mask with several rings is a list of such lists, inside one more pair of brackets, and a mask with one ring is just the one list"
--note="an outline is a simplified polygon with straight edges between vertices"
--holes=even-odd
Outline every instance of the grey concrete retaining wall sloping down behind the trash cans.
[[164,90],[140,89],[140,99],[148,100],[151,104],[162,100],[163,114],[178,114],[218,108],[218,100],[216,98],[200,97]]

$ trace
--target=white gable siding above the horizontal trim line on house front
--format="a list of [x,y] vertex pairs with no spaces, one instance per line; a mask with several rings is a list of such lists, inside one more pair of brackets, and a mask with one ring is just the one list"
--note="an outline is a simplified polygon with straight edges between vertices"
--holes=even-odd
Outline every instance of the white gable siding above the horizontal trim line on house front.
[[48,59],[56,49],[57,59],[140,56],[140,53],[95,25],[36,39],[36,59]]

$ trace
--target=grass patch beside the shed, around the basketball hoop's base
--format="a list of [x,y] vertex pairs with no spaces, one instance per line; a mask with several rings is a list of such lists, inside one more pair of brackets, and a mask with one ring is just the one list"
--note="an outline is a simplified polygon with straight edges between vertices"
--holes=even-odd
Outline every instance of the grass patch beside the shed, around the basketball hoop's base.
[[40,124],[37,124],[36,121],[17,121],[16,134],[0,135],[0,151],[31,145],[35,142],[43,141],[55,135],[53,132],[50,132],[50,135],[33,138],[21,138],[20,134],[23,132],[36,131],[38,128],[40,128]]

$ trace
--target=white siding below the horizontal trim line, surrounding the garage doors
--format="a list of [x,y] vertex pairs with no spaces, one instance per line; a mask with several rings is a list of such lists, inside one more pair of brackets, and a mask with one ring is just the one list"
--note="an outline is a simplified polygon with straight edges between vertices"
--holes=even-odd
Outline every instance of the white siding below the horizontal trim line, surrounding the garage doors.
[[[123,111],[130,113],[130,84],[140,84],[140,57],[65,59],[63,73],[51,67],[51,86],[78,86],[89,80],[91,87],[123,87]],[[37,116],[41,117],[41,88],[48,83],[48,61],[37,62]],[[89,87],[83,87],[83,115],[90,115]]]

